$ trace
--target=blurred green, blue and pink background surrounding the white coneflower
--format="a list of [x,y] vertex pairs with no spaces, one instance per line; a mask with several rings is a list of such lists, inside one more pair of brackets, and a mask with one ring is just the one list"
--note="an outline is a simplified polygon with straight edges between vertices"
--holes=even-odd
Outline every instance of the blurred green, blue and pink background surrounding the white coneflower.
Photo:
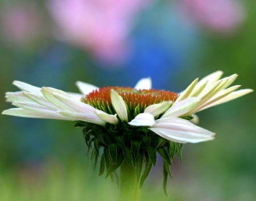
[[[79,92],[76,81],[182,91],[199,77],[237,73],[255,90],[256,3],[251,0],[0,2],[0,110],[14,80]],[[165,196],[162,164],[142,200],[255,200],[255,93],[200,112],[216,139],[186,144]],[[60,120],[0,116],[0,200],[118,200],[97,177],[82,129]]]

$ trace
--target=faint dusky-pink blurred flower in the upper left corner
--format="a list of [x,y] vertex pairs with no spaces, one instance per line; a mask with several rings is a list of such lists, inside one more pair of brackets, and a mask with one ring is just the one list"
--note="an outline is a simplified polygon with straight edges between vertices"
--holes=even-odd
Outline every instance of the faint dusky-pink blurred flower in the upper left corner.
[[4,41],[24,45],[42,34],[42,15],[31,3],[9,5],[1,10],[1,35]]

